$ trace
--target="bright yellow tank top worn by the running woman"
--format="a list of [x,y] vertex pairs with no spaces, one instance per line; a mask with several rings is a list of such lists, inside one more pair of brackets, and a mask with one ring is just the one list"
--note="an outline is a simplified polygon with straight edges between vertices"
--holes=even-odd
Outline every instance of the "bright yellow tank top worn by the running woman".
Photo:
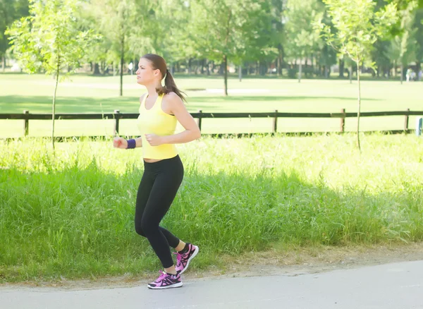
[[140,104],[140,116],[137,119],[137,125],[142,138],[142,155],[145,159],[169,159],[176,157],[178,150],[174,144],[163,144],[159,146],[149,145],[145,139],[145,134],[173,135],[176,129],[176,116],[166,114],[161,109],[161,100],[163,95],[157,97],[156,102],[151,109],[145,108],[144,96]]

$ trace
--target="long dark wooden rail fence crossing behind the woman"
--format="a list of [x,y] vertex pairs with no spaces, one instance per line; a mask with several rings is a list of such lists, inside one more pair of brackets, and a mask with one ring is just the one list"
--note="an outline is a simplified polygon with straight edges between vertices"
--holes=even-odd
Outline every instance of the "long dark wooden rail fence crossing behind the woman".
[[[357,117],[357,113],[347,113],[345,109],[341,109],[339,113],[283,113],[277,109],[273,112],[260,112],[260,113],[203,113],[202,110],[197,113],[190,113],[193,118],[197,119],[197,124],[202,127],[202,119],[230,119],[230,118],[269,118],[273,119],[273,132],[278,131],[278,118],[339,118],[340,132],[345,132],[345,118]],[[115,110],[113,113],[106,114],[55,114],[54,119],[66,120],[95,120],[95,119],[114,119],[114,133],[117,135],[119,132],[120,119],[137,119],[139,114],[121,113]],[[380,117],[380,116],[404,116],[404,132],[410,132],[409,116],[423,116],[423,111],[365,111],[360,113],[360,117]],[[29,111],[23,111],[23,114],[0,114],[0,119],[13,119],[23,120],[23,133],[28,135],[29,121],[30,120],[51,120],[52,114],[30,114]]]

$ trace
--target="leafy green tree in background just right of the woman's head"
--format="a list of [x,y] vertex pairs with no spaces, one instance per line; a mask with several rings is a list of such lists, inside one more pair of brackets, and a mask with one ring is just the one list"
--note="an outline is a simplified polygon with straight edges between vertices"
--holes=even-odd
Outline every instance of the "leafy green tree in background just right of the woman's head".
[[[240,63],[251,54],[259,54],[266,28],[262,20],[266,10],[262,1],[193,0],[189,2],[190,46],[207,58],[223,65],[225,95],[228,95],[228,62]],[[257,23],[262,26],[257,27]],[[270,27],[270,25],[267,25]],[[269,52],[263,49],[263,53]]]

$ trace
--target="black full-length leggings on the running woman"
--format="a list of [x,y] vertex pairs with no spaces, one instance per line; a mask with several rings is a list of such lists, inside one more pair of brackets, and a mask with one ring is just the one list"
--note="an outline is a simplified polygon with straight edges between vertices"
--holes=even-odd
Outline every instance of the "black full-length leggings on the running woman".
[[159,226],[178,192],[183,179],[183,164],[177,155],[159,162],[144,162],[144,174],[137,193],[135,231],[147,237],[164,268],[173,265],[171,250],[179,238]]

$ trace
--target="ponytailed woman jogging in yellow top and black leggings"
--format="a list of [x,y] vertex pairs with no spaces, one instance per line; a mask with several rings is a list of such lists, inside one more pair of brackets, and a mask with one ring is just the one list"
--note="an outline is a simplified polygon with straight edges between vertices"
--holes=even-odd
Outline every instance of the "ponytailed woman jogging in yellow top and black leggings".
[[[164,79],[164,87],[161,80]],[[200,138],[200,129],[185,109],[183,97],[167,70],[166,61],[156,54],[140,59],[137,83],[147,87],[140,97],[140,116],[137,124],[141,137],[133,140],[114,138],[114,147],[130,149],[142,147],[144,174],[137,192],[135,231],[148,239],[164,267],[149,289],[168,289],[182,286],[180,274],[185,272],[198,247],[180,241],[170,231],[159,226],[169,210],[183,179],[183,164],[175,144]],[[175,134],[176,121],[185,131]],[[171,250],[177,252],[173,265]]]

